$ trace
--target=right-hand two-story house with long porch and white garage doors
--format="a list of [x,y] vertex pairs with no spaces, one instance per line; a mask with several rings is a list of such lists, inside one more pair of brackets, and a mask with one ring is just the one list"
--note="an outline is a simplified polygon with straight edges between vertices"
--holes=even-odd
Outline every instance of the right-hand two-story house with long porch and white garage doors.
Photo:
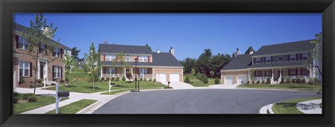
[[[309,79],[315,77],[312,72],[313,59],[310,54],[315,45],[311,40],[291,43],[265,45],[251,54],[235,53],[236,57],[221,69],[222,84],[246,84],[248,81],[267,81],[278,84],[283,77],[290,79]],[[314,71],[314,70],[313,70]]]

